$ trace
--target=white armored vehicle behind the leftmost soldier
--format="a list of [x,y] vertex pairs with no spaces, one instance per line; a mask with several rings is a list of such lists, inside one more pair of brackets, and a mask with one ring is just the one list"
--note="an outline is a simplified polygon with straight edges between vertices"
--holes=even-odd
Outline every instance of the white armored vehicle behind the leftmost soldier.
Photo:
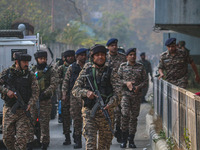
[[[31,64],[35,64],[34,53],[39,49],[39,33],[24,35],[25,25],[20,24],[19,30],[0,30],[0,72],[14,63],[13,54],[23,52],[32,56]],[[0,133],[2,130],[3,100],[0,98]]]

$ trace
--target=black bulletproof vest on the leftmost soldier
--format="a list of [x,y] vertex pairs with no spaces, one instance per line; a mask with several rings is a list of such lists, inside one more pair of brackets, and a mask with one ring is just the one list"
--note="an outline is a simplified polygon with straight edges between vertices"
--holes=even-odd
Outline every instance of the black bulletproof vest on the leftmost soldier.
[[[11,91],[14,91],[14,89],[18,90],[24,103],[28,104],[32,95],[32,77],[30,71],[28,71],[26,75],[18,76],[12,73],[10,69],[8,69],[5,80],[9,84],[6,84],[5,86]],[[16,98],[9,98],[7,95],[5,95],[4,99],[5,105],[8,107],[12,107],[16,103]]]

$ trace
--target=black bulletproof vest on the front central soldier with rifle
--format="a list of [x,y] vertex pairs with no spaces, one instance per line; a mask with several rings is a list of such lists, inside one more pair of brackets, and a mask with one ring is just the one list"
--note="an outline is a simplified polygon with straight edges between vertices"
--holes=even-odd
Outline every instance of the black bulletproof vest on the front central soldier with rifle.
[[[108,103],[109,97],[112,96],[113,94],[113,87],[110,81],[111,72],[112,72],[111,67],[106,66],[104,68],[102,76],[96,77],[97,87],[98,87],[99,92],[101,93],[102,99],[104,100],[104,104]],[[95,88],[92,67],[87,68],[86,73],[89,75],[89,79],[93,88]],[[86,89],[92,91],[92,88],[88,80],[86,80]],[[90,100],[88,98],[84,99],[84,107],[92,109],[94,104],[95,104],[94,100]]]

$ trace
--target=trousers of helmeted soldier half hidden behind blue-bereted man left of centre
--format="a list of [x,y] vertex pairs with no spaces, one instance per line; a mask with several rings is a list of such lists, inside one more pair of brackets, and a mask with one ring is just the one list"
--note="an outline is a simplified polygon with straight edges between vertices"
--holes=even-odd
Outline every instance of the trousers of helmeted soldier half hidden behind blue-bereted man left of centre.
[[[69,98],[68,98],[69,99]],[[61,114],[63,119],[63,134],[70,133],[70,101],[61,102]]]

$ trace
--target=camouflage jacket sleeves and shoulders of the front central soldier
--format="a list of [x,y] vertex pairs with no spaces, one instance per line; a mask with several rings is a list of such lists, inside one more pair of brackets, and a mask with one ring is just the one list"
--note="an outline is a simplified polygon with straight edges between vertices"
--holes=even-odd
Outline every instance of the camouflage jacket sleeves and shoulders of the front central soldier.
[[[77,78],[77,80],[74,84],[74,87],[72,89],[73,96],[75,96],[77,98],[81,98],[81,99],[87,97],[88,89],[86,89],[86,82],[88,82],[88,81],[87,81],[87,78],[84,76],[87,75],[86,70],[88,69],[88,67],[96,68],[95,74],[97,77],[97,76],[102,76],[105,66],[108,66],[108,64],[106,63],[103,67],[96,68],[95,65],[92,64],[91,62],[86,63],[84,65],[82,71],[79,73],[79,77]],[[116,91],[117,91],[118,87],[115,84],[116,79],[113,77],[113,71],[111,72],[110,82],[113,87],[113,96],[109,98],[109,101],[107,104],[110,105],[110,108],[113,108],[118,103],[118,97],[116,95]]]

